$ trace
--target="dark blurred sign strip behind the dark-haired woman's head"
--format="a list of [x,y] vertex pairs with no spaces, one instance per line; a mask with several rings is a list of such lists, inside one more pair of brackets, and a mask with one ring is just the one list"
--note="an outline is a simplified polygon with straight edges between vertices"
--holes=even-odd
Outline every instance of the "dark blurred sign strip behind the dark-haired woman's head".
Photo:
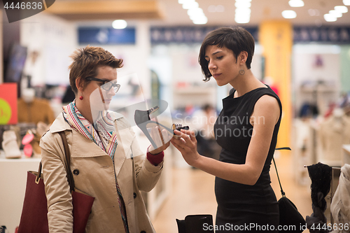
[[[151,43],[202,43],[204,37],[219,27],[151,27]],[[258,41],[258,27],[244,27]]]

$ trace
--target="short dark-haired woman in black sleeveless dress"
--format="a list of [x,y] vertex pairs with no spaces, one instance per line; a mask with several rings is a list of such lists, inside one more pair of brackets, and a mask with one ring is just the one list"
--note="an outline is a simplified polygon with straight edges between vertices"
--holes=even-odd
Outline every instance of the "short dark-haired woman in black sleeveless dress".
[[281,101],[251,71],[254,39],[242,27],[211,31],[200,48],[204,80],[232,85],[214,125],[220,159],[197,153],[194,132],[172,139],[188,164],[216,176],[216,232],[278,232],[279,206],[269,167],[281,123]]

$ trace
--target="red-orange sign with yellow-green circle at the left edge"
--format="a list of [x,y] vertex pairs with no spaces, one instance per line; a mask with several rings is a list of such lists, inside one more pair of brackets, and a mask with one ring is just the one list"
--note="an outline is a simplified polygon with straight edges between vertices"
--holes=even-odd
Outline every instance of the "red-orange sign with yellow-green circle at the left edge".
[[0,125],[17,124],[17,116],[17,83],[0,84]]

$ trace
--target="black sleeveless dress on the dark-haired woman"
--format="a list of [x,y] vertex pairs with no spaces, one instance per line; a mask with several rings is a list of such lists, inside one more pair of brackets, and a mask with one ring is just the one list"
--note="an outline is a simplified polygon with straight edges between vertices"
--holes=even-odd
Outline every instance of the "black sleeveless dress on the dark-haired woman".
[[[281,113],[274,127],[264,168],[255,185],[244,185],[216,177],[216,232],[278,232],[279,206],[270,185],[269,168],[281,123],[281,101],[268,86],[251,90],[237,98],[233,98],[234,94],[235,90],[223,99],[223,110],[214,125],[216,141],[223,148],[219,159],[222,162],[245,163],[253,133],[249,118],[260,97],[268,94],[276,98]],[[263,119],[255,119],[257,120]]]

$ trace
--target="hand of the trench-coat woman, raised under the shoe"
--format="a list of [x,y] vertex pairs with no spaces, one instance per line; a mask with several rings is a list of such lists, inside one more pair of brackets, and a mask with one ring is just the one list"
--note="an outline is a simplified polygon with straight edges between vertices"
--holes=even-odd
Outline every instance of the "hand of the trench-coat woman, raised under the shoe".
[[170,146],[170,139],[172,138],[172,135],[169,135],[165,129],[160,131],[159,127],[153,127],[151,129],[151,137],[157,148],[154,148],[151,144],[151,146],[148,148],[148,152],[152,155],[157,155]]

